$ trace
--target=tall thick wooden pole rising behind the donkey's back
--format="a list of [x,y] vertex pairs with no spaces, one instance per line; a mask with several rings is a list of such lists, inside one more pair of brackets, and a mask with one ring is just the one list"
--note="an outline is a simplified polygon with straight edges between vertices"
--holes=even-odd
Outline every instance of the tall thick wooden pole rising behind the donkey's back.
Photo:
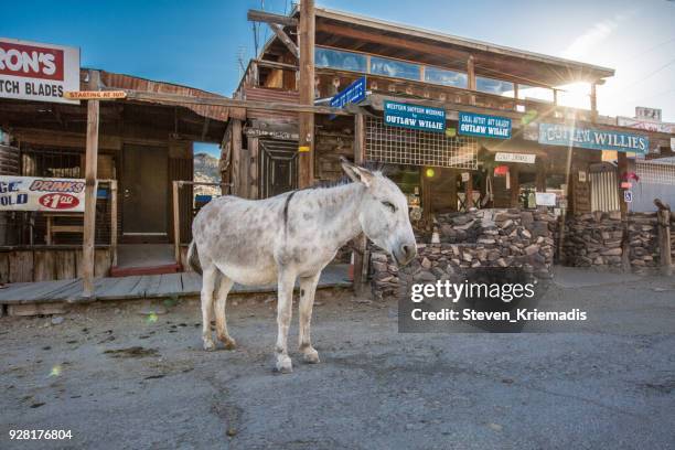
[[[314,104],[314,0],[300,1],[300,105]],[[314,179],[314,114],[300,113],[298,142],[298,185],[307,188]]]

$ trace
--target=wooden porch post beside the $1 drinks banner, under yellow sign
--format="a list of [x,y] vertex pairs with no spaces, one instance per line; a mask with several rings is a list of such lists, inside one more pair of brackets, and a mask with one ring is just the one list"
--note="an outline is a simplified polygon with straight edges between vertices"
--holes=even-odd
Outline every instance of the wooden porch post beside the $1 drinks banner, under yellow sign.
[[[89,71],[89,88],[98,90],[100,74]],[[98,117],[99,101],[87,100],[87,140],[85,157],[85,212],[82,243],[82,278],[85,298],[94,297],[94,238],[96,232],[96,170],[98,165]]]

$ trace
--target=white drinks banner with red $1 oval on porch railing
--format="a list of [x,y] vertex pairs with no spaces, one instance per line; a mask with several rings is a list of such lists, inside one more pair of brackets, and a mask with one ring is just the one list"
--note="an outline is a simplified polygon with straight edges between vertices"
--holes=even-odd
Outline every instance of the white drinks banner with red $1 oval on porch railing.
[[84,212],[85,181],[0,176],[0,211]]

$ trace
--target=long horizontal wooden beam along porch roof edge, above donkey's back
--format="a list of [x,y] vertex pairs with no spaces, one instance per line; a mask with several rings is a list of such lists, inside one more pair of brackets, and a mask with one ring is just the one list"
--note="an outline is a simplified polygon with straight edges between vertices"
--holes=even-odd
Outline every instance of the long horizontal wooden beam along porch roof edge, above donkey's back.
[[335,116],[351,116],[352,115],[352,113],[350,111],[346,111],[341,108],[331,108],[330,106],[298,105],[298,104],[274,103],[274,101],[251,101],[251,100],[240,100],[240,99],[226,98],[226,97],[195,97],[195,96],[190,96],[190,95],[150,93],[150,92],[141,92],[141,90],[132,90],[132,89],[127,90],[127,100],[149,101],[149,103],[158,103],[158,104],[163,104],[163,105],[176,105],[176,106],[184,106],[185,104],[188,105],[211,105],[211,106],[225,106],[229,108],[262,109],[262,110],[268,110],[268,111],[312,113],[312,114],[324,114],[324,115],[335,115]]

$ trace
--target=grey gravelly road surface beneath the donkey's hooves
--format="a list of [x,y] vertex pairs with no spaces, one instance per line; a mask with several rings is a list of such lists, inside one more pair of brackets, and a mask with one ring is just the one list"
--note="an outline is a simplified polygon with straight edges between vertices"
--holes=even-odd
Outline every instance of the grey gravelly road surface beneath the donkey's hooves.
[[[0,448],[674,448],[674,280],[547,296],[585,299],[607,320],[574,333],[399,334],[394,300],[325,293],[312,322],[322,363],[293,352],[289,375],[271,372],[269,300],[233,301],[238,349],[211,353],[196,301],[158,315],[93,304],[57,324],[2,318]],[[72,439],[17,441],[11,429]]]

